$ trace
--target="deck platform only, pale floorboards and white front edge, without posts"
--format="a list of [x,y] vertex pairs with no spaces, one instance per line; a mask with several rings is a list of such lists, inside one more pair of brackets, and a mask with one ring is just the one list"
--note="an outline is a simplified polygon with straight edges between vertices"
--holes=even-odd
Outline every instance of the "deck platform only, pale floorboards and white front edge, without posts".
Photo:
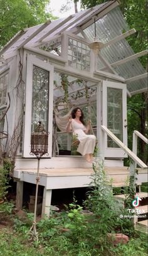
[[[112,179],[116,186],[117,183],[124,186],[129,177],[127,167],[106,167],[105,173],[108,180]],[[46,189],[86,187],[90,186],[92,174],[92,168],[44,168],[40,169],[40,185]],[[14,178],[36,184],[36,169],[15,170]]]

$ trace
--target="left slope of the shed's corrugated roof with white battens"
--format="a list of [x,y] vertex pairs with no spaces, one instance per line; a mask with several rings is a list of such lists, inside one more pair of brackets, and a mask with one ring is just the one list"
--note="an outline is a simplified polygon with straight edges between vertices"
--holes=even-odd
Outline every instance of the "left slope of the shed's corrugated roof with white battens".
[[[51,36],[57,35],[61,33],[61,31],[65,31],[66,29],[68,30],[70,27],[73,28],[73,26],[79,26],[79,24],[84,24],[86,21],[92,19],[92,15],[95,13],[99,13],[103,11],[104,8],[107,8],[108,6],[112,5],[116,1],[109,1],[107,3],[100,4],[98,6],[95,6],[93,8],[80,11],[78,13],[75,13],[73,15],[69,16],[68,18],[61,18],[61,19],[56,19],[54,21],[51,21],[50,24],[47,22],[47,26],[42,29],[39,33],[36,34],[28,43],[27,45],[33,46],[36,41],[40,41],[41,38],[48,32],[52,31],[54,29],[53,33],[50,34]],[[92,21],[93,23],[93,21]],[[46,23],[45,23],[46,24]],[[14,36],[13,39],[11,39],[6,46],[0,51],[0,56],[3,55],[4,53],[11,53],[14,50],[17,50],[23,43],[26,45],[25,41],[28,40],[28,38],[33,35],[33,33],[38,31],[38,29],[41,28],[43,24],[39,24],[37,26],[33,26],[31,28],[24,29],[24,31],[20,31],[19,33]],[[58,25],[59,28],[56,28]],[[23,33],[23,35],[21,35]],[[14,41],[15,40],[15,41]],[[50,38],[46,38],[46,40],[50,40]],[[11,45],[11,42],[13,41],[13,44]],[[43,40],[44,42],[44,40]]]

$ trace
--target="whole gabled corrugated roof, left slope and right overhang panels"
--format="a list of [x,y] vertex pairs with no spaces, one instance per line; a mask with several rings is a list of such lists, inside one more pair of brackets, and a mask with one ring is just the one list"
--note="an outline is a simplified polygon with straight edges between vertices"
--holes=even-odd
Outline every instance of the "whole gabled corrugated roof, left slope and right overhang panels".
[[[125,22],[120,12],[117,1],[108,1],[93,8],[80,11],[67,18],[47,21],[31,28],[20,31],[6,46],[0,51],[0,55],[11,56],[13,51],[26,46],[36,47],[46,43],[53,36],[60,35],[63,31],[70,31],[78,34],[81,29],[87,38],[92,41],[94,36],[94,17],[97,21],[97,36],[108,43],[115,37],[122,35],[123,31],[128,31],[129,26]],[[131,94],[147,90],[147,77],[144,68],[138,59],[133,59],[125,63],[117,63],[119,60],[134,55],[134,51],[124,39],[116,41],[112,45],[102,48],[100,55],[103,56],[112,70],[127,80],[127,88]],[[105,70],[104,62],[99,59],[98,70]],[[144,75],[143,75],[144,74]],[[139,79],[140,75],[140,79]],[[134,77],[138,77],[137,80]]]

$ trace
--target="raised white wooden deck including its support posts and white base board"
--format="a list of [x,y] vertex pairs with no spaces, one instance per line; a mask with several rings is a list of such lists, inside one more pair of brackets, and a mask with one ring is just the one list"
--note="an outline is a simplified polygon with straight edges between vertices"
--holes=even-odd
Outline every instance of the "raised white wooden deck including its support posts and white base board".
[[[14,169],[14,179],[17,181],[16,208],[23,204],[23,182],[36,184],[37,159],[18,159]],[[117,166],[115,165],[117,164]],[[128,185],[130,171],[123,166],[122,161],[106,161],[105,173],[108,181],[112,179],[112,186],[122,187]],[[42,216],[50,215],[51,195],[53,189],[84,188],[90,186],[92,181],[92,164],[82,157],[53,157],[41,159],[40,185],[44,187]],[[139,170],[137,183],[146,182],[147,170]]]

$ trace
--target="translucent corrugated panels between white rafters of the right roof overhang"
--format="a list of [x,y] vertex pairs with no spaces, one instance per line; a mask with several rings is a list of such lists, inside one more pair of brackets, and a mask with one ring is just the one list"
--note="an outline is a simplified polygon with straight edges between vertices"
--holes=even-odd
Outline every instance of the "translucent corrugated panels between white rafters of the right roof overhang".
[[[97,38],[103,43],[107,43],[128,30],[129,26],[124,20],[119,7],[113,9],[110,13],[103,16],[102,19],[99,19],[96,22]],[[85,33],[92,41],[92,38],[94,37],[94,24],[85,29]],[[123,60],[124,58],[134,55],[134,51],[130,47],[129,43],[127,43],[125,39],[122,39],[114,43],[114,45],[102,48],[101,55],[108,61],[108,63],[112,64],[116,61]],[[101,60],[98,60],[97,67],[98,69],[103,67]],[[126,63],[113,68],[125,79],[145,73],[145,69],[142,67],[138,59],[127,61]],[[143,90],[144,88],[147,88],[147,79],[143,78],[134,82],[127,82],[127,88],[130,93],[135,93],[136,90]]]

